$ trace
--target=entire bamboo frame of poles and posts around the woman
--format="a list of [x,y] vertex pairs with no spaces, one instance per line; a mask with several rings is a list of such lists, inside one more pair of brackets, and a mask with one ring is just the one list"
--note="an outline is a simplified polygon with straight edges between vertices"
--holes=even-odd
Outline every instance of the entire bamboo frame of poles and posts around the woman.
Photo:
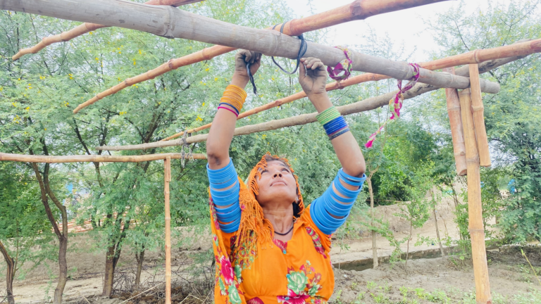
[[[171,6],[159,6],[159,4],[170,5],[175,1],[178,0],[151,0],[145,5],[127,1],[109,0],[0,0],[0,9],[23,11],[25,13],[37,13],[39,15],[49,15],[56,18],[89,22],[89,24],[77,27],[71,34],[82,34],[89,30],[89,28],[97,29],[99,27],[118,26],[132,30],[149,32],[151,34],[168,38],[194,39],[200,42],[223,45],[213,46],[212,48],[204,49],[189,56],[174,59],[154,70],[145,73],[144,75],[131,78],[129,79],[129,82],[128,80],[125,80],[125,82],[112,88],[116,88],[118,91],[120,91],[120,89],[134,84],[135,81],[149,80],[158,75],[162,75],[164,72],[168,72],[175,67],[178,68],[182,65],[210,59],[213,56],[220,55],[220,53],[232,51],[237,48],[259,51],[270,56],[295,58],[297,56],[297,50],[299,49],[300,42],[298,39],[287,36],[287,34],[301,34],[302,32],[328,27],[338,23],[347,22],[349,20],[362,19],[360,17],[362,15],[375,15],[378,13],[385,13],[387,11],[396,11],[406,8],[403,6],[404,4],[418,6],[446,0],[356,0],[352,4],[335,8],[335,10],[328,11],[323,14],[288,22],[284,26],[285,34],[280,34],[279,32],[272,30],[254,30],[248,27],[241,27],[218,20],[213,20],[194,13],[174,10],[171,8]],[[185,2],[188,1],[195,2],[198,0],[187,0]],[[158,4],[158,6],[149,6],[148,4]],[[373,6],[371,7],[371,5]],[[97,23],[103,23],[104,25],[98,25]],[[72,37],[70,34],[66,33],[57,36],[59,38],[48,37],[49,40],[44,39],[41,46],[45,47],[46,43],[49,42],[54,43],[54,39],[58,40],[56,42],[60,42],[63,41],[63,39],[72,39],[75,37]],[[485,232],[483,228],[480,194],[480,165],[490,165],[490,155],[488,154],[489,151],[486,139],[486,130],[483,121],[483,101],[480,93],[481,91],[488,93],[497,93],[499,91],[499,84],[480,80],[479,73],[490,70],[491,68],[495,68],[498,65],[516,60],[519,58],[518,56],[525,56],[530,53],[540,51],[541,39],[536,39],[530,42],[502,46],[495,49],[476,50],[458,56],[442,58],[437,61],[421,63],[419,82],[424,84],[419,83],[413,87],[413,89],[404,94],[404,99],[410,99],[427,91],[433,91],[439,87],[452,89],[447,93],[448,102],[450,105],[452,105],[452,107],[448,109],[449,119],[454,120],[452,124],[455,126],[462,126],[461,132],[464,137],[466,171],[468,174],[468,215],[470,220],[469,232],[472,240],[475,290],[476,300],[478,303],[491,303],[492,300],[490,296],[490,284],[487,272],[484,240]],[[344,59],[344,54],[342,51],[311,42],[308,43],[308,51],[306,51],[305,56],[321,58],[325,65],[331,66]],[[361,83],[364,81],[383,80],[391,77],[398,80],[409,80],[413,76],[413,69],[403,62],[388,61],[383,58],[367,56],[358,52],[352,52],[352,60],[354,62],[353,70],[368,72],[369,74],[360,75],[359,78],[354,77],[355,79],[351,82],[335,82],[328,84],[328,90],[342,89],[347,85],[354,84],[353,82]],[[492,62],[483,63],[484,61]],[[478,63],[483,64],[478,66]],[[457,69],[456,75],[452,74],[452,70],[444,73],[432,71],[464,64],[468,64],[468,66]],[[471,78],[464,77],[468,75],[471,75]],[[469,87],[471,87],[471,89],[468,89]],[[458,94],[459,108],[456,108],[456,89],[464,89]],[[113,91],[111,92],[113,93]],[[396,92],[391,92],[389,94],[366,99],[362,102],[341,106],[338,108],[338,110],[340,113],[342,113],[342,115],[372,110],[374,108],[387,105],[387,102],[392,96],[394,96],[395,93]],[[247,113],[244,113],[244,116],[242,117],[261,112],[261,110],[273,108],[274,106],[278,106],[286,102],[300,99],[304,97],[302,95],[303,94],[298,93],[293,96],[289,96],[286,99],[268,103],[262,107],[247,111]],[[104,96],[107,95],[101,95],[101,98]],[[95,101],[101,98],[100,94],[98,94],[95,97]],[[89,101],[92,101],[92,99]],[[87,101],[87,103],[89,101]],[[82,108],[82,105],[78,106],[74,110],[74,113],[77,113],[80,108]],[[456,118],[456,112],[458,110],[460,110],[460,120]],[[254,132],[268,131],[270,129],[278,129],[281,127],[290,127],[294,125],[304,125],[306,123],[316,122],[316,114],[317,113],[310,113],[283,120],[263,122],[258,125],[247,125],[235,129],[235,135],[250,134]],[[456,128],[460,129],[459,127]],[[458,134],[457,132],[458,131],[455,133]],[[456,134],[453,135],[454,145]],[[188,139],[179,139],[175,141],[159,141],[157,143],[143,145],[118,147],[104,146],[98,148],[100,150],[133,150],[139,148],[177,146],[180,144],[204,141],[207,137],[208,134],[200,134],[194,137],[189,137]],[[460,137],[457,135],[456,145],[458,147],[455,148],[461,148],[459,144]],[[185,155],[181,155],[180,153],[163,153],[149,156],[19,156],[15,154],[0,153],[0,160],[40,163],[70,163],[79,161],[138,162],[164,159],[165,157],[164,196],[166,209],[166,303],[169,304],[171,281],[169,189],[171,180],[170,160],[173,158],[182,158],[183,156]],[[204,159],[206,156],[204,156],[204,154],[194,155],[194,158]],[[457,172],[459,172],[459,174],[461,172],[461,170],[459,170],[458,161]]]

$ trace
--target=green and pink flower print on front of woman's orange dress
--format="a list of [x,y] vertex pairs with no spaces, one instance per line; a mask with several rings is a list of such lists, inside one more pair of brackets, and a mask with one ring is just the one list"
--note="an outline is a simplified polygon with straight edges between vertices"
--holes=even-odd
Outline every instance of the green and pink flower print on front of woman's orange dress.
[[[309,275],[313,277],[309,279]],[[307,300],[314,304],[323,304],[325,300],[318,296],[321,290],[321,273],[311,267],[310,261],[295,271],[293,268],[287,268],[287,296],[278,296],[278,303],[284,304],[304,304]]]

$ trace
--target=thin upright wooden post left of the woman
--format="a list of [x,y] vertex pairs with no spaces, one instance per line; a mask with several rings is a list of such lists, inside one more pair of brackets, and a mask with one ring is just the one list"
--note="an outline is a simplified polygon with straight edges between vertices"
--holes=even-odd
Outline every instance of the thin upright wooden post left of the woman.
[[171,211],[169,205],[169,182],[171,181],[171,158],[168,156],[163,161],[165,167],[163,176],[165,186],[163,187],[166,195],[166,304],[171,304]]

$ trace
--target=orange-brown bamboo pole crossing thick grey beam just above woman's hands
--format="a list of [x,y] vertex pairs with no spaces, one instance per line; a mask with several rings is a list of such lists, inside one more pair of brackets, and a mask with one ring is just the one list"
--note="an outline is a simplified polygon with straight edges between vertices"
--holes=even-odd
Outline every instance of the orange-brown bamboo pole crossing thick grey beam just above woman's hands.
[[[325,11],[323,13],[318,13],[305,18],[290,20],[285,23],[283,33],[289,36],[298,36],[300,34],[304,34],[305,32],[320,30],[325,27],[330,27],[340,23],[347,23],[352,20],[363,20],[381,13],[399,11],[404,8],[413,8],[440,1],[449,0],[356,0],[351,4],[340,6],[339,8],[335,8],[330,11]],[[280,23],[279,25],[268,27],[268,29],[275,28],[275,30],[280,30],[281,27],[282,24]],[[216,56],[220,56],[224,53],[229,53],[235,50],[236,48],[234,47],[216,45],[202,49],[201,51],[197,51],[195,53],[191,53],[187,56],[171,59],[170,61],[158,66],[158,68],[154,68],[135,77],[128,78],[116,86],[102,91],[101,93],[77,106],[77,108],[73,110],[73,113],[75,114],[82,108],[86,108],[87,106],[90,106],[107,96],[116,94],[127,87],[131,87],[134,84],[154,79],[155,77],[163,75],[166,72],[176,70],[186,65],[211,60]]]

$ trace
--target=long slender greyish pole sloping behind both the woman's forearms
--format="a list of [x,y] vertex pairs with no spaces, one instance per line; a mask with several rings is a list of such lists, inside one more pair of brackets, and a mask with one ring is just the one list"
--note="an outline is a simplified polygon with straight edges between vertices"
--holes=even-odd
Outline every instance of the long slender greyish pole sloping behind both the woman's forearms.
[[[516,61],[518,59],[524,58],[524,56],[516,56],[511,58],[502,58],[495,61],[488,61],[479,65],[479,72],[485,73],[489,70]],[[469,68],[462,67],[455,70],[456,75],[461,75],[467,77],[470,73]],[[415,87],[411,88],[409,91],[406,91],[404,94],[404,99],[411,99],[415,96],[419,96],[428,91],[435,91],[439,89],[430,84],[416,84]],[[397,94],[397,91],[383,94],[380,96],[371,97],[363,101],[357,101],[356,103],[349,104],[347,106],[337,107],[342,115],[350,115],[354,113],[360,113],[368,110],[373,110],[375,108],[380,108],[382,106],[387,106],[389,100]],[[257,125],[247,125],[244,127],[238,127],[235,129],[235,135],[245,135],[256,132],[269,131],[272,129],[280,129],[282,127],[292,127],[296,125],[306,125],[311,122],[316,122],[317,113],[303,114],[295,116],[293,118],[285,118],[282,120],[272,120],[270,122],[263,122]],[[192,144],[195,142],[206,141],[208,134],[199,134],[186,139],[187,144]],[[180,146],[184,143],[182,139],[175,139],[171,141],[156,141],[148,144],[137,144],[137,145],[128,145],[128,146],[98,146],[96,150],[108,150],[108,151],[123,151],[123,150],[145,150],[148,148],[165,148],[169,146]]]

